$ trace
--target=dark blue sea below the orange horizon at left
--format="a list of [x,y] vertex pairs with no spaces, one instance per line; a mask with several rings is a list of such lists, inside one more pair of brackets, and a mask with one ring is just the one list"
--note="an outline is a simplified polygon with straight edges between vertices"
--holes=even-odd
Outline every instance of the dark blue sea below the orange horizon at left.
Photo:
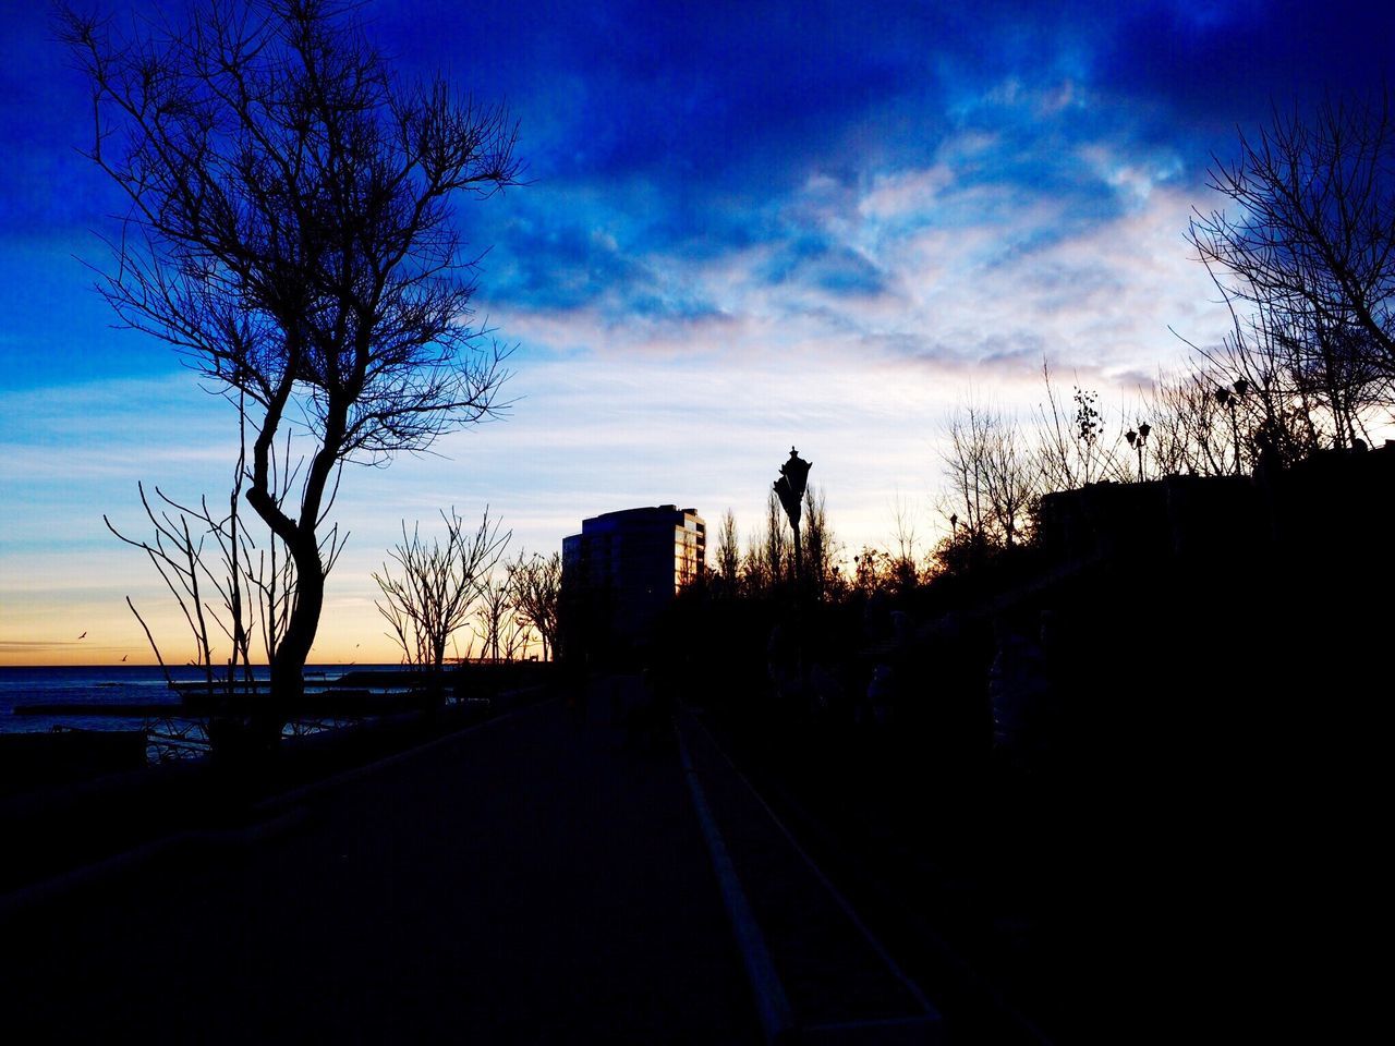
[[[335,679],[345,672],[384,671],[399,665],[308,665],[306,679]],[[258,679],[265,668],[255,668]],[[170,668],[177,682],[198,682],[198,668]],[[33,704],[81,704],[84,714],[17,715],[15,708]],[[107,665],[100,668],[3,668],[0,667],[0,734],[46,731],[53,727],[82,729],[140,729],[144,718],[119,718],[103,714],[103,706],[167,704],[170,715],[179,713],[179,696],[165,682],[159,667]],[[91,708],[91,713],[86,710]]]

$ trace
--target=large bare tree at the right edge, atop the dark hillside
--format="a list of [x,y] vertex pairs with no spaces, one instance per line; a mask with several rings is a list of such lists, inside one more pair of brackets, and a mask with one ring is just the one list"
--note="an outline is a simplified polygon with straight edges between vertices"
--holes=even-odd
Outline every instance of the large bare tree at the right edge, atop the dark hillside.
[[[1311,117],[1275,109],[1258,137],[1240,135],[1209,185],[1235,212],[1197,212],[1189,238],[1229,303],[1247,303],[1272,336],[1341,386],[1395,378],[1395,120],[1387,91],[1327,100]],[[1355,364],[1355,365],[1353,365]],[[1353,438],[1349,418],[1338,438]]]

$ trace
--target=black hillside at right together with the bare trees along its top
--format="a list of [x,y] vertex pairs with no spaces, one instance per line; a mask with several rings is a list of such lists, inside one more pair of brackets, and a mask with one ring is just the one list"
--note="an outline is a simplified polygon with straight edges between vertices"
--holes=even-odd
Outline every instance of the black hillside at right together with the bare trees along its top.
[[727,513],[651,651],[949,943],[910,961],[960,1013],[1007,1000],[992,1040],[1343,1038],[1378,997],[1343,927],[1382,904],[1392,153],[1385,93],[1276,113],[1191,225],[1233,325],[1189,371],[1117,417],[1045,365],[1031,417],[963,406],[925,554],[897,506],[840,562],[810,488],[795,572],[773,498],[745,549]]

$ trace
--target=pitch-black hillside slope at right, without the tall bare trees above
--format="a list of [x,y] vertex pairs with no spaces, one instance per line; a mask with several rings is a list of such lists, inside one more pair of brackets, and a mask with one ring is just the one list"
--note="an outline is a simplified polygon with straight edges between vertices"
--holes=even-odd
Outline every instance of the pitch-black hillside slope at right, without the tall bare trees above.
[[1346,997],[1371,980],[1338,927],[1378,897],[1391,491],[1391,449],[1103,480],[1011,545],[960,523],[928,562],[806,583],[764,536],[732,584],[718,544],[651,672],[1055,1036],[1134,1026],[1179,969],[1159,1020]]

